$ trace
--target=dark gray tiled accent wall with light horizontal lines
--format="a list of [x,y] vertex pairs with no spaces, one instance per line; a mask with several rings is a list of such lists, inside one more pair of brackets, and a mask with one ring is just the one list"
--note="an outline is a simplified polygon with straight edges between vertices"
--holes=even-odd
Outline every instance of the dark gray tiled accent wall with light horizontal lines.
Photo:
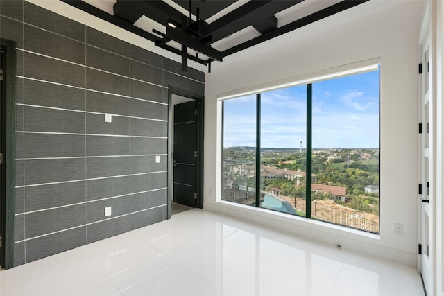
[[0,1],[0,37],[17,42],[15,265],[165,220],[168,86],[203,96],[204,73],[21,0]]

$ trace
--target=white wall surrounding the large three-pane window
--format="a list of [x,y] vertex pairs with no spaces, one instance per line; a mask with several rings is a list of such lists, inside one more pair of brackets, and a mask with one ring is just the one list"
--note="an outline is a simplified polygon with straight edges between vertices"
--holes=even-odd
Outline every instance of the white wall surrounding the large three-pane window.
[[[368,1],[214,64],[206,77],[204,208],[416,266],[418,38],[424,1]],[[221,202],[218,95],[344,64],[381,63],[380,236]],[[405,225],[403,236],[394,223]]]

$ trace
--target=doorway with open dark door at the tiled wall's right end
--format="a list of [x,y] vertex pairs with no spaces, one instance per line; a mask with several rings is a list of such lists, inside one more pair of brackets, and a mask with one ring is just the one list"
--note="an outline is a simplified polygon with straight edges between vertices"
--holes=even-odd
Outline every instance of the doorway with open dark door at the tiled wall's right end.
[[170,92],[169,217],[203,204],[203,98]]

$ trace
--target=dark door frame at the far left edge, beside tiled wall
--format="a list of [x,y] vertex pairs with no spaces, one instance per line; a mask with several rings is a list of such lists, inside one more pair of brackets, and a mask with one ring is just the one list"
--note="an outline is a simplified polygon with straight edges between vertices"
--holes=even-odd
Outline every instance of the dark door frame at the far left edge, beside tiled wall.
[[16,44],[11,40],[0,39],[5,49],[5,75],[3,78],[3,100],[1,101],[2,129],[1,141],[3,150],[3,176],[1,180],[1,195],[4,201],[2,225],[3,237],[3,267],[13,268],[14,228],[15,228],[15,76],[16,76]]

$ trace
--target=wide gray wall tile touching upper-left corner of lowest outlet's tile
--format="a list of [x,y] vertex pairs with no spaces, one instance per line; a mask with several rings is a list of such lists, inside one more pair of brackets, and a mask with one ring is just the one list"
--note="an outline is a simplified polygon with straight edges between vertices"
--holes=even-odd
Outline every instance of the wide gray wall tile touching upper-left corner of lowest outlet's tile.
[[26,187],[26,211],[37,211],[86,201],[86,181]]

